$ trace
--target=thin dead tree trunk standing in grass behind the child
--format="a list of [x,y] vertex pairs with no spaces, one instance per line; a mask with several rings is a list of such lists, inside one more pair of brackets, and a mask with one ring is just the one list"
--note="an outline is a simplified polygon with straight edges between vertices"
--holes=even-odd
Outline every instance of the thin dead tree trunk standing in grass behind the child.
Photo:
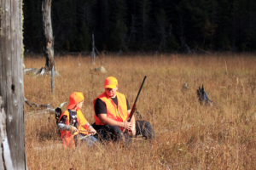
[[55,93],[55,59],[54,59],[54,38],[50,17],[51,0],[43,0],[43,30],[44,30],[44,56],[46,58],[45,70],[51,71],[51,92]]

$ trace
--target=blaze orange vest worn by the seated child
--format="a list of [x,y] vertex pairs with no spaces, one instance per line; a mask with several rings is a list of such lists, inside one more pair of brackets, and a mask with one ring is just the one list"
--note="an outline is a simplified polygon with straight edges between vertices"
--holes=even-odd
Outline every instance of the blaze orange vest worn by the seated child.
[[[67,116],[67,122],[66,125],[69,125],[69,112],[66,110],[64,111],[59,119],[59,122],[61,120],[61,117],[66,115]],[[88,131],[88,126],[87,124],[87,120],[84,118],[84,115],[82,114],[82,111],[78,110],[77,111],[77,121],[79,122],[79,128],[78,130],[82,130],[82,131]],[[64,148],[67,147],[75,147],[75,143],[73,140],[73,134],[70,133],[70,131],[64,131],[64,130],[60,130],[61,132],[61,140],[62,140],[62,145]],[[79,133],[83,133],[83,134],[88,134],[88,132],[79,132]],[[78,134],[79,135],[79,134]]]

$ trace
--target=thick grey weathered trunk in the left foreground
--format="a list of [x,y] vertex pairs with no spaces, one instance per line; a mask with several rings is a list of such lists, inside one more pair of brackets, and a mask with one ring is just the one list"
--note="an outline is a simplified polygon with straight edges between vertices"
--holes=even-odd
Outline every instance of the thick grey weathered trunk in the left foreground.
[[[27,169],[24,123],[22,0],[0,0],[0,96],[14,169]],[[6,161],[6,160],[5,160]],[[9,169],[9,167],[5,167]]]

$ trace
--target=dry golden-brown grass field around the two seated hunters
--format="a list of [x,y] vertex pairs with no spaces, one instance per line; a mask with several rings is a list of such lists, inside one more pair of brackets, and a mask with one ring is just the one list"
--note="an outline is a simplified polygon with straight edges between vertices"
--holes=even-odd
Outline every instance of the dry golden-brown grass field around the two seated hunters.
[[[105,78],[116,77],[119,92],[132,105],[143,77],[148,76],[137,111],[154,126],[157,139],[134,139],[129,148],[108,143],[64,150],[55,115],[38,114],[25,105],[29,169],[256,169],[255,54],[105,55],[102,62],[96,59],[91,65],[88,56],[56,56],[61,77],[55,77],[55,95],[50,76],[28,74],[25,97],[56,107],[73,92],[83,92],[82,112],[92,124],[93,100],[104,91]],[[39,69],[45,59],[26,56],[24,63],[26,68]],[[107,73],[91,70],[101,65]],[[182,91],[185,82],[189,90]],[[215,102],[212,107],[197,100],[196,89],[202,84]]]

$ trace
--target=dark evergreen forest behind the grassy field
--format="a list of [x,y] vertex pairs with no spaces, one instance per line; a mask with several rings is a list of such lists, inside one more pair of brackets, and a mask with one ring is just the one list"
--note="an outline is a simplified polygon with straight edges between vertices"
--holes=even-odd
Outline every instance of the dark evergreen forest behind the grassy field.
[[[25,48],[43,52],[42,0],[24,0]],[[253,51],[255,0],[52,0],[55,50]]]

